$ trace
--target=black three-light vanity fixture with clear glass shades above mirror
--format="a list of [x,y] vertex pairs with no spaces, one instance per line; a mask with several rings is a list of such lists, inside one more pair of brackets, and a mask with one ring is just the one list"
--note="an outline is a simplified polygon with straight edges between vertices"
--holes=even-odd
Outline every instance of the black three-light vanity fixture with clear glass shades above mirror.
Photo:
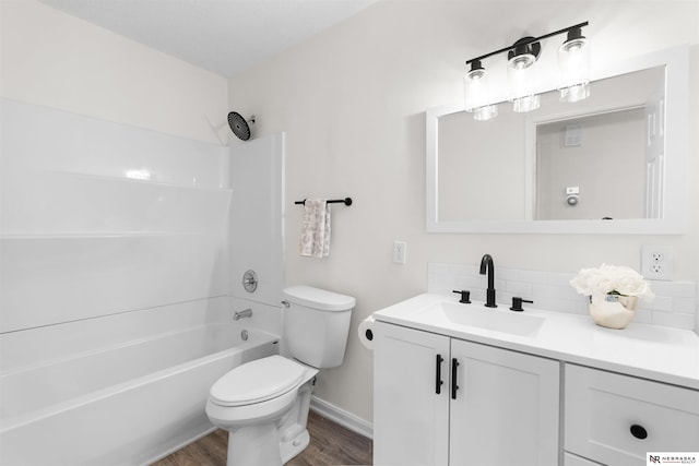
[[488,120],[497,116],[497,106],[489,100],[486,71],[483,60],[498,53],[508,52],[508,93],[514,111],[531,111],[541,106],[541,97],[534,93],[534,64],[542,51],[543,39],[567,33],[567,38],[558,49],[559,81],[558,91],[561,101],[578,101],[590,96],[590,45],[582,35],[582,28],[589,23],[580,23],[565,29],[538,37],[522,37],[513,45],[466,61],[471,71],[465,82],[465,109],[473,112],[476,120]]

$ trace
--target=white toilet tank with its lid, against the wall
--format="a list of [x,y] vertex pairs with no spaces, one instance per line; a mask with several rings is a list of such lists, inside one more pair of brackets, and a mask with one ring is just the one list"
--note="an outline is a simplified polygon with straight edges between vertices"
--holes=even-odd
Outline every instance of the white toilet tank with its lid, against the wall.
[[291,356],[318,369],[342,366],[355,299],[311,286],[284,288],[283,295]]

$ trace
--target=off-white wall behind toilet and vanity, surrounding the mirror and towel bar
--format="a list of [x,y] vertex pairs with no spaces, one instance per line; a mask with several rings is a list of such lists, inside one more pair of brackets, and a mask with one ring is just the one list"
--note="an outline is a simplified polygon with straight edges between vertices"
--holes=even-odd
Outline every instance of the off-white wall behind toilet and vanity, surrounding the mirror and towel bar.
[[[287,284],[357,298],[345,363],[321,373],[318,396],[371,419],[372,356],[356,325],[426,290],[429,261],[475,264],[487,252],[496,267],[639,268],[641,244],[661,243],[675,250],[676,279],[699,280],[696,183],[684,236],[425,232],[425,109],[462,98],[466,59],[585,20],[593,61],[699,43],[696,1],[388,0],[230,81],[233,108],[259,116],[260,133],[286,132]],[[690,128],[699,121],[698,63],[695,46]],[[690,172],[698,174],[698,133],[691,138]],[[355,203],[333,207],[330,258],[298,256],[300,211],[293,215],[292,202],[346,195]],[[393,240],[407,241],[406,265],[391,262]]]

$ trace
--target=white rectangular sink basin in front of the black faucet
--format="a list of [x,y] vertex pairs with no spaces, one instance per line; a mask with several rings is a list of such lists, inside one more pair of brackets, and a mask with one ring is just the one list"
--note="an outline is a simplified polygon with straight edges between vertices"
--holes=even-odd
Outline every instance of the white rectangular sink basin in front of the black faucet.
[[529,337],[535,336],[544,324],[544,319],[541,316],[512,312],[506,307],[493,309],[476,303],[458,302],[440,302],[430,306],[419,311],[415,318],[430,324],[466,325]]

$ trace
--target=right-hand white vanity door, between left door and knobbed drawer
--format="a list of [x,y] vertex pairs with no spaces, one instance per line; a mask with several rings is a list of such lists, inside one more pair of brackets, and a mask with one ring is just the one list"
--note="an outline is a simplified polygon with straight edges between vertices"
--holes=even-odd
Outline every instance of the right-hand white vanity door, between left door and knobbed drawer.
[[458,339],[451,357],[450,464],[558,464],[559,362]]

